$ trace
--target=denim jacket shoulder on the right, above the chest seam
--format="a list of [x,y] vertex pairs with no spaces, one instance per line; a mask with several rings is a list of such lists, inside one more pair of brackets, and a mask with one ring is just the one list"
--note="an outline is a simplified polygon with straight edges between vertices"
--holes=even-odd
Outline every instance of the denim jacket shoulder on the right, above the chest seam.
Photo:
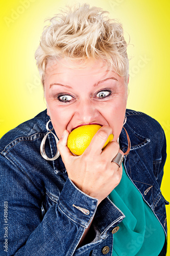
[[151,116],[134,110],[126,110],[127,125],[135,132],[152,142],[164,143],[165,135],[160,123]]

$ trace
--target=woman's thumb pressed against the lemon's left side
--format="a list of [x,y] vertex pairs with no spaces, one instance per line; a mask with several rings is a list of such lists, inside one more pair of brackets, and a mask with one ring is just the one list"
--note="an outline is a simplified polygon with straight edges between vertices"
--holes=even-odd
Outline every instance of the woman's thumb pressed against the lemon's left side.
[[68,130],[64,130],[61,136],[61,139],[57,143],[57,148],[58,148],[58,151],[60,152],[63,162],[66,158],[68,158],[69,156],[72,156],[72,154],[69,151],[69,148],[67,147],[68,135],[69,135]]

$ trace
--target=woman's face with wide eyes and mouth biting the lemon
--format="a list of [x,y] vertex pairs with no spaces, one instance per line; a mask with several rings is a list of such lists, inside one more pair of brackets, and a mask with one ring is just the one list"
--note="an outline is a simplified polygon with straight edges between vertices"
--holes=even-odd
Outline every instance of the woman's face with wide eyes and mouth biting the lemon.
[[122,131],[128,89],[125,78],[108,71],[104,62],[91,59],[86,67],[65,59],[47,65],[44,96],[47,113],[60,139],[65,129],[98,123],[112,127],[114,141]]

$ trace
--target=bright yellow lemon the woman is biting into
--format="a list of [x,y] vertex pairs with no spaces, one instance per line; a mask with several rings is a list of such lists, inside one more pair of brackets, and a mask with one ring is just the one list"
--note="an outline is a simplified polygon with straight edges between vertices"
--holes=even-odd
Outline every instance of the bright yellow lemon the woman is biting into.
[[[85,149],[90,144],[93,136],[96,134],[96,132],[98,132],[101,127],[102,126],[99,124],[87,124],[77,127],[72,132],[70,132],[67,140],[67,147],[75,155],[82,155]],[[110,141],[112,141],[112,139],[113,134],[110,134],[102,150]]]

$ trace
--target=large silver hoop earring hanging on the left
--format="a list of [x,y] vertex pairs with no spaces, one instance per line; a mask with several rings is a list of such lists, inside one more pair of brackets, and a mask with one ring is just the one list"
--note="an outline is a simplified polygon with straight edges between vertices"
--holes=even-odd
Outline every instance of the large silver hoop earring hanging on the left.
[[41,141],[41,145],[40,145],[40,153],[41,153],[41,156],[45,159],[45,160],[49,160],[49,161],[53,161],[53,160],[56,160],[59,156],[60,156],[60,152],[57,150],[56,152],[56,155],[53,157],[53,158],[49,158],[47,157],[46,153],[45,153],[45,140],[48,136],[48,134],[53,134],[55,140],[56,140],[56,144],[58,143],[58,139],[56,137],[56,135],[54,133],[52,133],[52,131],[54,130],[54,127],[53,129],[49,129],[48,127],[48,124],[51,122],[51,119],[46,123],[46,130],[49,131],[45,136],[44,138],[42,139]]

